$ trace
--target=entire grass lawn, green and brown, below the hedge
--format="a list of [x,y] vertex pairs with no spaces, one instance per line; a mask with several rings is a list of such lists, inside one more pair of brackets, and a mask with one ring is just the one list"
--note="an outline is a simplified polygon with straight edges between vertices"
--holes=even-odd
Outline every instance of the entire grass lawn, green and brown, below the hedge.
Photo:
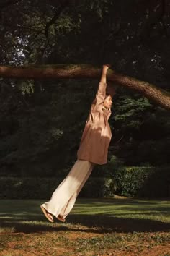
[[0,255],[170,256],[170,201],[77,200],[66,223],[50,223],[46,200],[0,200]]

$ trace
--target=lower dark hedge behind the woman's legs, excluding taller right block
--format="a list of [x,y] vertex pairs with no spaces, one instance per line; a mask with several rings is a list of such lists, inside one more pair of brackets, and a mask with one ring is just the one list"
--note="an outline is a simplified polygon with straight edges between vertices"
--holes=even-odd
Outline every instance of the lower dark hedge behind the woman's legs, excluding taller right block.
[[[0,199],[45,199],[50,198],[63,180],[51,178],[0,178]],[[80,192],[82,197],[113,196],[112,179],[89,178]]]

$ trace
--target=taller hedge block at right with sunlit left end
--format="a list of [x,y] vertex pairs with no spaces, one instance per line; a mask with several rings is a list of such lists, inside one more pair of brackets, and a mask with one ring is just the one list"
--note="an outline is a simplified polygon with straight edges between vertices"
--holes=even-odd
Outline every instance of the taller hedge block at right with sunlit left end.
[[133,197],[170,197],[170,167],[120,168],[113,174],[115,192]]

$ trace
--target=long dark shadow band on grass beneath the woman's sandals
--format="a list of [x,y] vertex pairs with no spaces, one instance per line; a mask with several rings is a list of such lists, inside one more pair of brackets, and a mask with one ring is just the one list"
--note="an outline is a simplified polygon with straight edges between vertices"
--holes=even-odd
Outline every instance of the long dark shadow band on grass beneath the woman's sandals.
[[133,233],[133,232],[169,232],[170,223],[147,219],[115,218],[107,215],[70,215],[67,223],[48,223],[40,218],[0,219],[1,229],[13,229],[15,233],[38,233],[42,231],[82,231],[90,233]]

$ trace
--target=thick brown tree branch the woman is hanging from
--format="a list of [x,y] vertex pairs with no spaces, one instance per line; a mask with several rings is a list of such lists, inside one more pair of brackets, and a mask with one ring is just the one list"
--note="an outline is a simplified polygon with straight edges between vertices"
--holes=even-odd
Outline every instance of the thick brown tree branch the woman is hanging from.
[[[0,66],[0,77],[17,79],[99,79],[100,74],[101,67],[95,67],[90,64],[30,65],[27,67]],[[138,93],[141,93],[156,105],[170,110],[170,93],[166,90],[156,88],[155,85],[148,82],[119,74],[112,69],[108,70],[107,80],[113,83],[116,82],[117,85],[124,88],[138,91]]]

